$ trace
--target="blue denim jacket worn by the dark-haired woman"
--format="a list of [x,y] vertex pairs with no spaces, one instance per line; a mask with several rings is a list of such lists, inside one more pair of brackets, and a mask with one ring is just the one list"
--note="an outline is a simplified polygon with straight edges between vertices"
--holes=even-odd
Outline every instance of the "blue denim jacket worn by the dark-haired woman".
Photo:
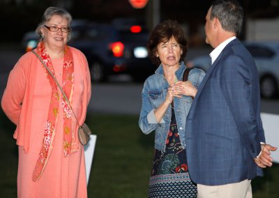
[[[181,62],[181,66],[176,70],[176,78],[183,79],[183,73],[186,66]],[[197,88],[204,78],[204,71],[194,68],[190,70],[188,81]],[[171,122],[172,109],[171,106],[167,107],[167,111],[163,116],[163,119],[158,123],[154,110],[156,110],[167,96],[167,89],[169,84],[164,77],[163,66],[160,65],[154,75],[151,75],[144,82],[144,88],[142,89],[142,109],[140,112],[139,125],[144,134],[149,134],[155,130],[155,148],[159,151],[165,152],[165,142],[167,140],[167,133]],[[186,148],[185,142],[185,125],[186,117],[192,104],[192,98],[190,96],[182,96],[182,98],[174,97],[174,114],[176,118],[177,128],[179,130],[179,137],[181,145]]]

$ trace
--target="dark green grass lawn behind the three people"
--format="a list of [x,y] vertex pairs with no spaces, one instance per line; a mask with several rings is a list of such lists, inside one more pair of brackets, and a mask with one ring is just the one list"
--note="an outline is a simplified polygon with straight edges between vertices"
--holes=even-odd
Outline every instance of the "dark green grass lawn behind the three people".
[[[142,134],[137,121],[137,116],[87,116],[86,123],[97,135],[89,198],[146,197],[153,158],[153,135]],[[0,112],[0,197],[16,197],[14,129],[14,125]],[[273,165],[264,172],[264,178],[252,181],[253,197],[279,197],[279,165]]]

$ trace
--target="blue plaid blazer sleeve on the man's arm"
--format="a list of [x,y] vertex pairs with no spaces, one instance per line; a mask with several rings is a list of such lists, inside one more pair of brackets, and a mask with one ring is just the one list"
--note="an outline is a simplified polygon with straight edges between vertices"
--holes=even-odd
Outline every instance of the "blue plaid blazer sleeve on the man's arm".
[[253,89],[253,74],[247,63],[239,56],[231,55],[223,63],[220,74],[220,87],[229,110],[240,132],[241,140],[252,158],[261,151],[257,108]]

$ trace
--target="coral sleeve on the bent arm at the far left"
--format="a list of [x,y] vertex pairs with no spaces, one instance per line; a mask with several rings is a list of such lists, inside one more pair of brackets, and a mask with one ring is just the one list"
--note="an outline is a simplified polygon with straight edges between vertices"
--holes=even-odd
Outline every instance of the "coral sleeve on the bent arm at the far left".
[[6,89],[1,100],[1,107],[8,119],[17,125],[20,120],[22,101],[26,87],[26,75],[24,74],[24,63],[20,59],[13,70],[10,71]]

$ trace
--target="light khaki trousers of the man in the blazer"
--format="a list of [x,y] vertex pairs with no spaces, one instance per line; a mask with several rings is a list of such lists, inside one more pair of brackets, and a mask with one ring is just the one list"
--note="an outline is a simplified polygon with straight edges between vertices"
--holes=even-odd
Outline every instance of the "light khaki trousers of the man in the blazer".
[[197,198],[252,198],[251,181],[225,185],[197,184]]

